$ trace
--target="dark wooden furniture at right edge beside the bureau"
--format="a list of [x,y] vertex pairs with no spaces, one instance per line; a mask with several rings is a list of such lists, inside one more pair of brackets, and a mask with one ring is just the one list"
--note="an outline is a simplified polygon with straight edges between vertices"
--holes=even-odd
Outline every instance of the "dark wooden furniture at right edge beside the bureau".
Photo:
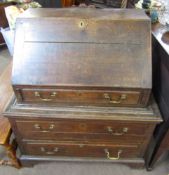
[[[153,94],[164,122],[154,132],[147,169],[151,170],[162,153],[169,150],[169,32],[159,23],[152,26]],[[163,35],[164,34],[164,35]]]

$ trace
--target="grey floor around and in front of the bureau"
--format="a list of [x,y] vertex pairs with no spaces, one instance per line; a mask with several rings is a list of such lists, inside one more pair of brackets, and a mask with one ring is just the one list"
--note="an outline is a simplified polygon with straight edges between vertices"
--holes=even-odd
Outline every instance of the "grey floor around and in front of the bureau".
[[[7,49],[0,49],[0,74],[10,62]],[[0,148],[0,156],[4,150]],[[131,169],[128,166],[112,163],[56,162],[39,164],[31,168],[17,170],[13,167],[0,167],[0,175],[169,175],[169,155],[164,155],[151,172],[145,169]]]

